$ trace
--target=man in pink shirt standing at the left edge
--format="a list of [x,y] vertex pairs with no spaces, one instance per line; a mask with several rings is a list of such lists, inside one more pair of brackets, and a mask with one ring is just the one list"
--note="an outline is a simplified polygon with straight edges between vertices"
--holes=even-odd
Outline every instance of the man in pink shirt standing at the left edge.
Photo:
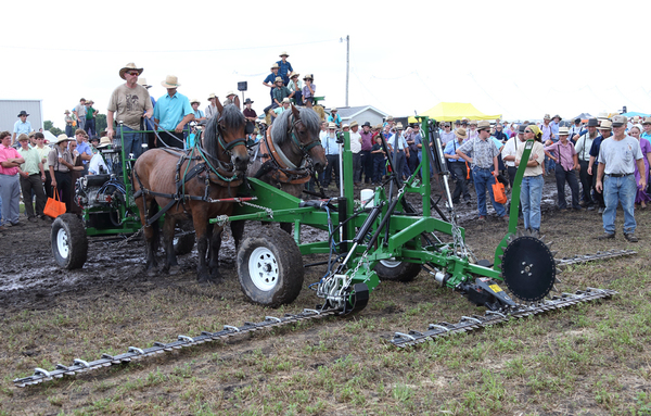
[[20,165],[25,163],[25,160],[11,146],[11,133],[0,133],[0,203],[2,203],[2,220],[4,222],[0,226],[4,227],[21,225],[18,220],[21,213],[18,171]]

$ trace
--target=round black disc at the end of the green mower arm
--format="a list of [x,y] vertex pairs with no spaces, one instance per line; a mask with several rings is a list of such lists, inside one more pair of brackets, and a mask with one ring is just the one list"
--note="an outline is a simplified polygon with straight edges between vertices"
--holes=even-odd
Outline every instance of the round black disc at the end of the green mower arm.
[[553,253],[531,236],[519,237],[507,245],[501,269],[511,293],[523,301],[541,300],[556,282]]

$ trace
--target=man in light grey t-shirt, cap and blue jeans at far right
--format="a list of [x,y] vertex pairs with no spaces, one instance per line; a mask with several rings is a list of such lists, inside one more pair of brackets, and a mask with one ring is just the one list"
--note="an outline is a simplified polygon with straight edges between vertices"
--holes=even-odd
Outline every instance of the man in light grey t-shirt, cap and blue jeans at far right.
[[[639,141],[626,135],[626,122],[623,115],[612,118],[614,135],[612,139],[604,140],[599,150],[596,189],[597,192],[603,191],[605,200],[605,211],[602,215],[604,235],[599,237],[600,240],[615,238],[617,205],[622,203],[624,238],[629,242],[638,241],[635,236],[637,224],[634,216],[637,193],[635,165],[637,164],[639,172],[644,172],[646,167]],[[647,178],[640,178],[640,186],[644,189]]]

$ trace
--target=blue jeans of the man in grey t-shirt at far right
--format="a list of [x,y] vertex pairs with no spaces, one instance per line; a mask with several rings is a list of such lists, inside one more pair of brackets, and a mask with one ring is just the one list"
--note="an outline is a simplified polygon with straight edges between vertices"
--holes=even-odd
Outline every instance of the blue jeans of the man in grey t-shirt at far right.
[[637,193],[637,184],[635,175],[614,176],[605,175],[603,178],[603,200],[605,210],[603,211],[603,230],[608,234],[615,232],[615,218],[617,216],[617,203],[622,203],[624,210],[624,232],[635,232],[637,224],[633,214],[635,194]]

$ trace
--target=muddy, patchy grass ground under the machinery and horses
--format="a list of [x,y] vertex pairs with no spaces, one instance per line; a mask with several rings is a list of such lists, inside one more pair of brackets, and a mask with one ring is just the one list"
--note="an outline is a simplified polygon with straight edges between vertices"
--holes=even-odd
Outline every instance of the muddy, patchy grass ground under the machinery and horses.
[[[554,249],[561,254],[643,248],[640,251],[646,255],[571,269],[562,289],[617,288],[617,278],[634,273],[637,280],[633,286],[640,290],[636,295],[648,300],[646,259],[651,214],[636,213],[639,244],[627,243],[621,232],[616,241],[600,242],[593,239],[602,232],[596,212],[558,211],[551,177],[547,177],[544,193],[542,234],[556,241]],[[506,223],[495,217],[492,209],[487,222],[477,222],[476,202],[461,204],[458,213],[467,242],[477,257],[492,259],[506,232]],[[91,361],[103,352],[119,353],[130,345],[169,342],[179,333],[192,336],[201,330],[218,330],[225,324],[242,325],[245,320],[261,320],[265,315],[314,307],[318,299],[306,287],[324,273],[324,266],[306,269],[305,287],[296,302],[279,311],[266,310],[247,303],[239,288],[232,239],[220,253],[225,281],[205,287],[195,282],[195,251],[180,257],[179,274],[146,276],[144,247],[139,239],[128,243],[90,239],[84,268],[60,269],[51,255],[50,223],[22,220],[24,226],[12,227],[0,236],[0,415],[564,415],[628,414],[630,408],[651,414],[651,367],[646,349],[642,354],[637,345],[630,346],[631,352],[618,352],[597,342],[593,353],[605,348],[605,362],[615,360],[615,364],[591,368],[584,362],[576,364],[583,358],[575,358],[567,365],[578,365],[578,374],[564,377],[566,366],[545,366],[550,350],[560,348],[557,338],[565,337],[567,330],[585,335],[587,341],[582,344],[592,345],[590,340],[597,336],[590,333],[610,316],[599,312],[601,306],[579,307],[576,316],[561,312],[539,317],[532,324],[532,333],[507,326],[461,337],[461,342],[444,343],[456,351],[454,355],[448,355],[442,343],[412,352],[397,352],[386,345],[382,340],[395,330],[426,329],[427,323],[456,322],[461,315],[482,312],[458,293],[438,289],[425,273],[408,285],[383,282],[371,294],[367,310],[352,319],[298,325],[124,368],[15,389],[11,380],[29,375],[37,366],[53,368],[56,363],[71,364],[76,357]],[[620,211],[620,229],[622,223]],[[258,226],[251,223],[247,229]],[[320,231],[304,234],[306,240],[321,236]],[[323,256],[304,259],[305,263],[320,260]],[[620,312],[637,304],[631,302],[613,304]],[[608,306],[608,302],[604,304]],[[580,319],[588,324],[577,324]],[[648,327],[649,316],[640,319],[646,319]],[[513,346],[503,346],[507,341]],[[649,335],[642,333],[633,337],[631,343],[646,341]],[[524,367],[522,374],[505,377],[506,370],[514,368],[513,363]],[[539,380],[527,366],[539,368]],[[598,388],[602,389],[601,395],[595,393]],[[634,407],[627,407],[631,403]]]

